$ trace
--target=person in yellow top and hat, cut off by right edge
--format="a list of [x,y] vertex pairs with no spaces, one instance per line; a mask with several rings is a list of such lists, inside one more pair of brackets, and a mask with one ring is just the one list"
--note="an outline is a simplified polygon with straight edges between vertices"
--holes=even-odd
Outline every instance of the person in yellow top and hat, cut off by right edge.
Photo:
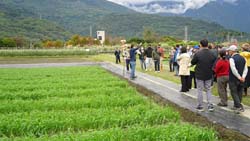
[[[248,43],[245,43],[242,45],[242,52],[240,53],[241,56],[243,56],[246,61],[247,61],[247,68],[250,70],[250,45]],[[246,76],[246,81],[244,85],[244,93],[245,96],[247,96],[247,88],[250,87],[250,71],[248,71],[247,76]]]

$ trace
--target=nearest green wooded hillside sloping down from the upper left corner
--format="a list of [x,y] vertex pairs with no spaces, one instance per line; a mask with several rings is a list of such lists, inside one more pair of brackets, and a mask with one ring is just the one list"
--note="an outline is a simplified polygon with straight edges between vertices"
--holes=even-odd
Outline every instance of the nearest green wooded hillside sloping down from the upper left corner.
[[29,40],[66,39],[72,33],[56,23],[40,20],[29,10],[0,1],[0,37],[24,37]]

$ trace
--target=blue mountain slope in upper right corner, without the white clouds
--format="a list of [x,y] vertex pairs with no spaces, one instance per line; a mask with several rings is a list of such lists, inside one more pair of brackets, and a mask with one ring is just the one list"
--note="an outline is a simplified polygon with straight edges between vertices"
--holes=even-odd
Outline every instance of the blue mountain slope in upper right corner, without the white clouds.
[[207,19],[227,28],[250,33],[250,0],[237,0],[226,3],[213,1],[197,10],[188,10],[184,16],[196,19]]

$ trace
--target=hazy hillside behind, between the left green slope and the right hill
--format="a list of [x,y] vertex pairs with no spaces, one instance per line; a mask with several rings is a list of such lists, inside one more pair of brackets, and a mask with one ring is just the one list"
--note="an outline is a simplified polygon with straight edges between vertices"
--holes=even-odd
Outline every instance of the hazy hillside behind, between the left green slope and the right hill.
[[9,5],[32,10],[37,17],[60,24],[73,33],[89,35],[100,18],[111,13],[133,13],[123,6],[105,0],[6,0]]

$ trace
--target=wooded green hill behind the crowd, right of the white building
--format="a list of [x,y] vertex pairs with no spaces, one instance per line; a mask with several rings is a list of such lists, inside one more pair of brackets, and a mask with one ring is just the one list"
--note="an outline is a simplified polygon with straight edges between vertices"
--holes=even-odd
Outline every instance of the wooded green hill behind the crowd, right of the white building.
[[[115,24],[113,21],[116,21]],[[105,29],[111,35],[139,36],[142,37],[144,27],[150,27],[159,35],[171,35],[184,39],[184,27],[188,26],[189,38],[199,40],[215,33],[226,31],[222,26],[215,23],[196,21],[191,18],[152,16],[147,14],[111,14],[101,20],[100,29]],[[215,39],[215,37],[214,37]]]

